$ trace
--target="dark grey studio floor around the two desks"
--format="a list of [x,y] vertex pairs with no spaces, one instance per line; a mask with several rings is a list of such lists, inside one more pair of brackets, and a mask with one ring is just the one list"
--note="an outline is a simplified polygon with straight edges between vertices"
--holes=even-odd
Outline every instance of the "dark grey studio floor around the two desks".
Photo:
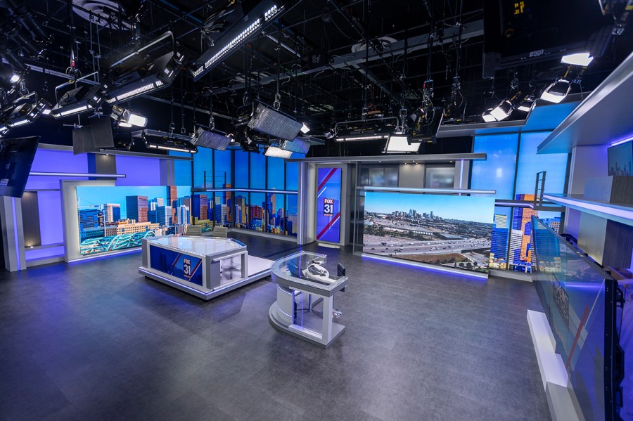
[[549,419],[532,284],[319,250],[351,285],[327,350],[271,328],[269,278],[203,302],[139,276],[138,253],[0,274],[0,419]]

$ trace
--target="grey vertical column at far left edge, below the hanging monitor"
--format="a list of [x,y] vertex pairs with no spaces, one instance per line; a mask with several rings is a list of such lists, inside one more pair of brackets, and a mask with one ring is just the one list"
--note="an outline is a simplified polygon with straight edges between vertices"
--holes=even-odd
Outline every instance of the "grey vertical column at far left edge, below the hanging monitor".
[[11,272],[26,269],[22,201],[16,197],[0,197],[0,219],[4,247],[4,267]]

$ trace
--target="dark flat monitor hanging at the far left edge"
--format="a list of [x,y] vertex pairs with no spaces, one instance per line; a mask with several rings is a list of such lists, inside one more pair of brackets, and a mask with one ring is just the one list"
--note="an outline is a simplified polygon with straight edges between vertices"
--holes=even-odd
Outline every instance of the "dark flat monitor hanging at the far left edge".
[[22,197],[39,136],[0,139],[0,195]]

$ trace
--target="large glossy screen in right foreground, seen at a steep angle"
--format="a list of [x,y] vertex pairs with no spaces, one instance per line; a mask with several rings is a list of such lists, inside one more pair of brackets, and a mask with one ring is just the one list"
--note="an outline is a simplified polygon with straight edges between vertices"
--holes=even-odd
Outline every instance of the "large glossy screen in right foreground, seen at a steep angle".
[[586,420],[611,419],[615,281],[532,216],[532,280]]

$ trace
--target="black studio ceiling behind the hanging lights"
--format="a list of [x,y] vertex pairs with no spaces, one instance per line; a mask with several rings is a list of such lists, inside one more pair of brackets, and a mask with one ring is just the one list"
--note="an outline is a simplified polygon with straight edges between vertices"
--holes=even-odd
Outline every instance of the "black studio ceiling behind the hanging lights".
[[[7,36],[4,45],[0,42],[0,49],[9,51],[27,65],[63,73],[70,65],[72,19],[76,28],[77,68],[87,75],[96,69],[99,57],[103,63],[106,57],[132,48],[134,32],[117,27],[132,21],[132,16],[139,10],[142,11],[141,42],[170,30],[191,63],[207,49],[200,32],[203,22],[222,8],[226,0],[118,1],[124,12],[114,13],[110,22],[101,22],[103,25],[91,25],[81,15],[69,13],[69,1],[66,0],[27,0],[23,3],[47,41],[42,42],[42,34],[35,31],[36,41],[33,42],[28,39],[30,34],[22,30],[23,38],[36,48]],[[100,1],[75,0],[70,3],[89,11]],[[599,7],[598,1],[593,3]],[[15,0],[0,1],[0,7],[6,11],[20,4]],[[460,10],[462,6],[463,10]],[[4,25],[10,26],[17,15],[5,13]],[[163,114],[169,110],[165,103],[174,100],[178,124],[181,101],[208,110],[212,98],[213,110],[218,115],[236,117],[239,108],[255,98],[269,103],[274,101],[279,69],[281,108],[323,133],[333,121],[357,119],[365,105],[369,111],[398,115],[404,97],[405,108],[413,110],[420,105],[423,82],[429,78],[429,65],[430,78],[434,82],[433,103],[448,106],[458,52],[461,51],[457,73],[461,77],[461,96],[452,106],[451,116],[473,121],[487,105],[508,96],[515,77],[521,84],[540,87],[553,81],[563,68],[556,58],[498,70],[494,79],[483,79],[484,37],[478,29],[482,28],[484,18],[484,0],[303,0],[281,17],[281,25],[276,23],[267,27],[200,81],[194,83],[189,73],[183,70],[171,88],[152,93],[152,96],[163,100],[156,103],[157,110],[160,108]],[[459,38],[452,35],[459,33],[457,25],[460,23],[463,25],[461,48]],[[430,60],[426,44],[408,44],[407,53],[376,53],[383,43],[388,45],[393,41],[426,37],[433,28],[439,45],[430,48]],[[583,90],[594,89],[631,52],[631,32],[633,30],[625,30],[620,37],[615,37],[606,53],[588,67],[582,79]],[[371,58],[367,61],[363,60],[365,39],[369,39],[372,46],[369,49]],[[281,48],[277,48],[278,41],[281,41]],[[45,51],[38,56],[42,48]],[[352,51],[360,51],[356,60],[350,56]],[[328,62],[317,70],[307,69],[305,57],[310,53],[322,54]],[[4,72],[8,71],[10,69],[5,68]],[[63,78],[37,73],[35,70],[30,73],[28,88],[51,96],[49,99],[53,102],[53,88],[64,82]],[[250,75],[248,89],[245,89],[245,73]],[[257,83],[258,80],[261,83]],[[169,118],[168,111],[159,121],[150,116],[150,125],[155,129],[167,129]],[[194,116],[187,110],[186,118],[200,121],[206,117]],[[217,119],[219,124],[230,123],[230,119],[220,123],[218,120],[221,119]],[[191,122],[186,122],[186,126],[192,127]]]

